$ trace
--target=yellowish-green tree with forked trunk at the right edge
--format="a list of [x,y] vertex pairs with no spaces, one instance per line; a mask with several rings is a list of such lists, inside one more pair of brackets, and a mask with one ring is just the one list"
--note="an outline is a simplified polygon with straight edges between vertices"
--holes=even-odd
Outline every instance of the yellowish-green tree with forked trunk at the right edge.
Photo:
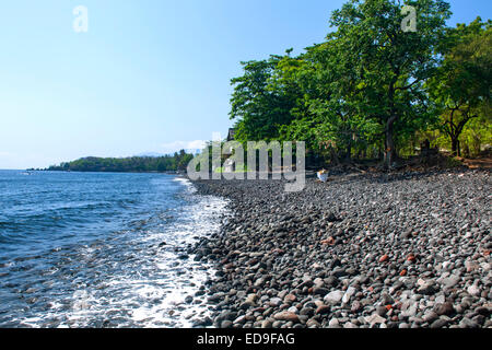
[[461,155],[459,138],[473,118],[491,118],[492,22],[477,18],[469,25],[449,28],[442,51],[444,62],[430,80],[432,98],[442,108],[441,130]]

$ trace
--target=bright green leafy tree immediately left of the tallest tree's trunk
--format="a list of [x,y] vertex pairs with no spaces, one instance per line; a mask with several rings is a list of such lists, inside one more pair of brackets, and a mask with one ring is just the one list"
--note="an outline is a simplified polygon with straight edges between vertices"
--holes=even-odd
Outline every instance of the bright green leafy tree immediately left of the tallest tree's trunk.
[[360,72],[356,57],[343,52],[343,42],[328,35],[327,42],[307,48],[305,60],[311,69],[306,86],[308,112],[317,122],[318,142],[330,150],[332,161],[351,159],[352,149],[374,141],[377,125],[361,109]]

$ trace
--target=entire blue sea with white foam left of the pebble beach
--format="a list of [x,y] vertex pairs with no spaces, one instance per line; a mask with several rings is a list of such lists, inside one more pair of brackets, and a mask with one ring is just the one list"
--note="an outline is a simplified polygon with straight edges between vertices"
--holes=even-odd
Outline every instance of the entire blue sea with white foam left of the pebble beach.
[[213,273],[186,248],[222,199],[164,174],[0,171],[0,327],[189,327]]

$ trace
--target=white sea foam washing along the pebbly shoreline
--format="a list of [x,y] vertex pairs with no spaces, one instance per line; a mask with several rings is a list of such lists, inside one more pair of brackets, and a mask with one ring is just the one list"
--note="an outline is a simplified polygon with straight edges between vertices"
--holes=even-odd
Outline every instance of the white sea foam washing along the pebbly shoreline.
[[[190,327],[197,317],[209,315],[207,305],[188,304],[186,296],[195,295],[214,270],[210,265],[194,261],[190,255],[179,259],[174,248],[196,243],[197,237],[213,234],[220,229],[226,201],[215,197],[191,195],[195,187],[185,178],[176,178],[186,186],[185,195],[192,201],[172,224],[160,224],[142,231],[129,247],[120,247],[119,258],[106,249],[109,243],[82,246],[81,261],[95,264],[101,271],[96,282],[79,281],[81,287],[65,302],[54,302],[42,317],[23,319],[30,326],[43,325],[47,319],[61,319],[58,327]],[[165,241],[163,248],[155,248]],[[147,248],[144,248],[147,247]],[[132,248],[134,252],[127,252]],[[118,252],[117,249],[115,252]],[[103,256],[103,258],[101,258]],[[119,262],[121,261],[121,262]],[[121,267],[118,267],[121,264]],[[108,271],[105,271],[105,269]],[[116,271],[116,272],[113,272]],[[112,273],[109,273],[112,272]],[[107,275],[106,275],[107,273]],[[75,283],[75,280],[73,280]]]

